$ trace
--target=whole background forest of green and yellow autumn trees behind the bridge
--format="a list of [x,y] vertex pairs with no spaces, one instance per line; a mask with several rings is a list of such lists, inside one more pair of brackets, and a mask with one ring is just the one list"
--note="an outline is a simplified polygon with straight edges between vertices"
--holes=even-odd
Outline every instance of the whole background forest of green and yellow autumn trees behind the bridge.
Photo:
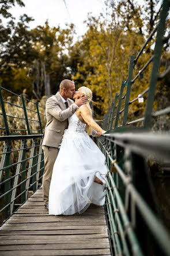
[[[63,29],[56,24],[30,30],[33,17],[23,14],[20,21],[10,13],[14,5],[24,6],[22,0],[1,0],[0,20],[0,84],[15,93],[27,89],[29,99],[41,100],[59,89],[62,79],[71,79],[75,87],[84,85],[93,91],[96,118],[101,119],[119,93],[122,79],[126,80],[130,55],[137,53],[153,28],[156,27],[160,8],[158,0],[105,1],[105,11],[99,17],[88,14],[87,31],[75,41],[75,26]],[[169,25],[169,21],[167,23]],[[154,39],[135,66],[138,73],[152,56]],[[161,70],[169,65],[169,45],[165,45]],[[131,98],[138,96],[149,85],[151,65],[144,78],[135,83]],[[134,74],[135,75],[135,74]],[[154,108],[165,107],[169,101],[168,78],[158,85]],[[160,99],[160,92],[163,98]],[[135,103],[131,115],[140,115],[144,104]]]

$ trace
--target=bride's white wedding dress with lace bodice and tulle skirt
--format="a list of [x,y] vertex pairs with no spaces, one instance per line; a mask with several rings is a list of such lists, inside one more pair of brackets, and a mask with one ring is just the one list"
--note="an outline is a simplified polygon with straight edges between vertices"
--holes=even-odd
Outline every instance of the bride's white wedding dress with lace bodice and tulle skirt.
[[83,213],[90,202],[105,202],[103,186],[94,182],[99,172],[105,178],[105,156],[85,131],[76,113],[69,118],[54,163],[49,193],[49,214]]

